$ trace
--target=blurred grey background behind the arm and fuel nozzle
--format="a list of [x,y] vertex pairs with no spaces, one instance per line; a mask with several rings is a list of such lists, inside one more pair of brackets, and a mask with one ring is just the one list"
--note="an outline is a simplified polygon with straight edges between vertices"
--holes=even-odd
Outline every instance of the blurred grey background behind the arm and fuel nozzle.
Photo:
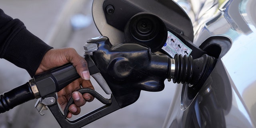
[[[24,22],[30,32],[54,48],[72,47],[82,56],[88,38],[101,36],[92,18],[93,0],[0,0],[0,8],[12,18]],[[100,8],[101,9],[101,8]],[[30,80],[26,70],[1,59],[0,93]],[[92,79],[95,90],[105,95]],[[166,82],[167,83],[167,82]],[[160,128],[169,109],[176,88],[169,82],[161,92],[142,91],[134,104],[117,110],[84,128]],[[58,128],[50,110],[40,116],[34,104],[26,102],[0,114],[0,128]],[[103,106],[96,99],[86,103],[82,112]]]

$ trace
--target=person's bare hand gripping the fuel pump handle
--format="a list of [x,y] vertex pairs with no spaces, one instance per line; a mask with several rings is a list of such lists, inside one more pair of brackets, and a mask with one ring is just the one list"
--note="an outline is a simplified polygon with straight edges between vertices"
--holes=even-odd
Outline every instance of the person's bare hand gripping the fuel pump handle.
[[75,80],[70,83],[68,86],[60,90],[58,92],[58,103],[62,110],[68,104],[68,100],[71,96],[74,99],[74,104],[69,106],[69,113],[67,118],[71,118],[72,114],[77,115],[80,113],[80,107],[83,106],[86,101],[91,102],[94,97],[88,93],[81,94],[76,90],[80,88],[91,88],[94,89],[92,83],[90,82],[90,74],[88,71],[88,66],[86,60],[80,56],[74,48],[59,48],[59,49],[51,49],[44,55],[42,62],[38,69],[36,70],[36,74],[50,70],[51,68],[55,68],[58,66],[62,66],[71,62],[73,66],[76,68],[76,71],[81,76],[81,78]]

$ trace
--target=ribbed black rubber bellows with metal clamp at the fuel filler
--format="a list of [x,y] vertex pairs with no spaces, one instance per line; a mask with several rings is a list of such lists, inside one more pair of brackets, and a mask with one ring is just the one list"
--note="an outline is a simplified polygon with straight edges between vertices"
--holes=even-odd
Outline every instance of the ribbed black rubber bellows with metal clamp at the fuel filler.
[[169,81],[172,79],[174,83],[186,83],[197,88],[210,75],[217,59],[204,54],[193,60],[192,56],[176,54],[174,58],[171,58],[171,62],[171,73],[167,79]]

